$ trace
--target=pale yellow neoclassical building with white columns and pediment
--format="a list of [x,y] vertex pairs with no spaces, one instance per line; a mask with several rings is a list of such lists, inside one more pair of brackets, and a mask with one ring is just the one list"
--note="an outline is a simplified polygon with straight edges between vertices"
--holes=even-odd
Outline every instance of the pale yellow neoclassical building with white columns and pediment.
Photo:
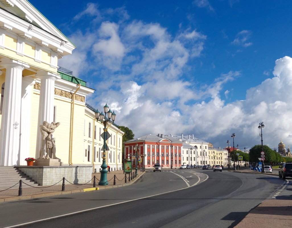
[[[58,59],[75,48],[28,1],[0,1],[0,166],[25,165],[25,158],[38,158],[40,125],[47,121],[60,122],[53,138],[63,165],[100,170],[103,125],[86,103],[94,89],[58,66]],[[107,163],[121,169],[124,133],[113,123],[108,132]]]

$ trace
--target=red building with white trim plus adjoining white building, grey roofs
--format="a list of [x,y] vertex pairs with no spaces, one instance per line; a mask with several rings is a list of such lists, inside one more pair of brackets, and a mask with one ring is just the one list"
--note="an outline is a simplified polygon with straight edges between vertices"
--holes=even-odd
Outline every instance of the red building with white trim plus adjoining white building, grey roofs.
[[[187,138],[183,137],[183,134],[182,136],[149,134],[124,142],[124,158],[133,159],[133,168],[136,167],[136,152],[137,168],[152,168],[155,163],[165,168],[171,168],[172,163],[173,168],[179,168],[182,164],[208,164],[207,148],[207,142],[198,140],[193,135]],[[202,152],[206,154],[202,155]],[[206,161],[203,161],[205,158]],[[199,159],[201,160],[198,161]]]

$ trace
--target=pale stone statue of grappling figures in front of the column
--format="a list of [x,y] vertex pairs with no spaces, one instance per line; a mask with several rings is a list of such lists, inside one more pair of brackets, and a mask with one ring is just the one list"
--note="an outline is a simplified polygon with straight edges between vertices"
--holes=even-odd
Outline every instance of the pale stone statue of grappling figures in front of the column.
[[[52,133],[60,125],[60,122],[48,124],[47,121],[44,121],[42,125],[39,126],[41,130],[41,148],[40,156],[38,159],[49,159],[54,158],[56,153],[55,142],[52,138]],[[46,157],[45,157],[46,153]]]

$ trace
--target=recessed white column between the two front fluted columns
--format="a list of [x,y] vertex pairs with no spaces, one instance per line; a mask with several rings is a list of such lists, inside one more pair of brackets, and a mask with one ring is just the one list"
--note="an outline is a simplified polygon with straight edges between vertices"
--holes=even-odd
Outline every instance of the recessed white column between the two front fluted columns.
[[29,157],[32,86],[35,80],[24,77],[22,79],[21,117],[20,117],[20,145],[19,165],[26,165],[25,158]]

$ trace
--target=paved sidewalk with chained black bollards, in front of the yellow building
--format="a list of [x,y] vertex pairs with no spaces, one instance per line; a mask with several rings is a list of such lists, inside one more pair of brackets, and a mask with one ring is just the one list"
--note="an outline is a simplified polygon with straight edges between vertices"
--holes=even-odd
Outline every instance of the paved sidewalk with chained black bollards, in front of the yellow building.
[[[7,201],[18,201],[23,199],[34,199],[34,198],[41,198],[41,197],[48,197],[48,196],[55,196],[61,194],[71,194],[71,193],[78,193],[78,192],[87,192],[87,191],[96,191],[100,189],[107,189],[107,188],[117,188],[123,187],[126,185],[131,185],[136,180],[139,179],[141,175],[145,172],[141,172],[140,169],[138,170],[137,177],[133,178],[133,180],[128,180],[125,183],[125,174],[123,174],[123,170],[118,171],[111,171],[107,173],[107,181],[109,185],[100,186],[98,182],[100,180],[100,173],[92,173],[92,178],[95,175],[96,178],[96,188],[93,188],[93,180],[86,185],[72,185],[65,180],[65,191],[62,191],[62,184],[61,185],[54,185],[50,187],[46,186],[38,186],[38,187],[26,187],[24,188],[25,184],[22,183],[22,196],[18,196],[19,189],[8,189],[5,191],[0,192],[0,202],[7,202]],[[116,185],[114,185],[114,175],[116,175]],[[127,178],[129,175],[127,174]],[[62,183],[62,182],[61,182]],[[19,185],[17,185],[19,186]]]

